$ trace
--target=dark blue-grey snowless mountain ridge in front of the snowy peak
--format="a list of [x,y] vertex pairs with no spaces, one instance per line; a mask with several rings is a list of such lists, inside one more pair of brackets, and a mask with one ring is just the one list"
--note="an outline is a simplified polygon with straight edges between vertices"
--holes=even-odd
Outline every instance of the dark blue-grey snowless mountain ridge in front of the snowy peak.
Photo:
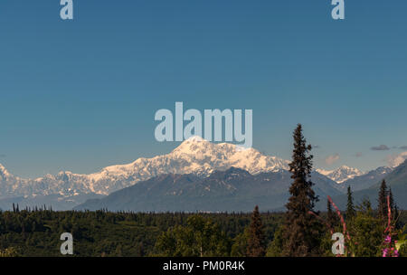
[[[312,179],[318,195],[341,194],[335,188],[336,183],[326,176],[314,173]],[[196,175],[159,175],[102,199],[89,200],[75,209],[246,212],[258,204],[263,210],[273,210],[287,203],[291,181],[290,173],[285,170],[251,175],[234,167],[215,171],[204,178]]]

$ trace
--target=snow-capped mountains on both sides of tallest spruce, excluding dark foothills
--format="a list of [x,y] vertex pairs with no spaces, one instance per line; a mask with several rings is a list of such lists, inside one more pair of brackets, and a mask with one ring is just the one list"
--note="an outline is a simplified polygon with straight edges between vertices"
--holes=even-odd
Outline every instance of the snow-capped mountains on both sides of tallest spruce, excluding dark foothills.
[[[12,175],[0,165],[0,208],[7,209],[11,204],[17,203],[23,207],[46,204],[58,210],[72,209],[88,199],[98,199],[137,183],[146,183],[156,176],[192,175],[204,180],[215,171],[222,172],[231,167],[247,171],[250,175],[268,173],[270,180],[275,180],[270,183],[273,188],[285,186],[282,185],[281,176],[286,183],[290,182],[287,160],[262,155],[254,148],[228,143],[215,144],[201,137],[191,137],[166,155],[141,157],[130,164],[108,166],[90,175],[65,171],[57,175],[24,179]],[[312,179],[317,183],[315,188],[319,194],[335,193],[325,192],[327,188],[343,193],[345,186],[348,183],[351,185],[352,181],[362,182],[357,184],[361,188],[374,185],[387,170],[384,167],[383,173],[377,170],[364,174],[355,168],[342,166],[334,171],[317,170]]]

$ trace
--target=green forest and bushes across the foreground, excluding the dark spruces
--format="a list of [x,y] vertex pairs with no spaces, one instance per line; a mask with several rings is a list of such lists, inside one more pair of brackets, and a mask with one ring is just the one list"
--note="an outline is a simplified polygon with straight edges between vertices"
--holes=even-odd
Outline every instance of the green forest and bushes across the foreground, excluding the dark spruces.
[[[368,204],[366,204],[368,205]],[[2,256],[62,256],[62,232],[73,234],[75,257],[198,255],[200,244],[203,255],[245,256],[249,240],[250,213],[109,213],[53,212],[51,210],[15,212],[0,211],[0,253]],[[321,214],[326,216],[327,213]],[[282,256],[286,239],[284,213],[260,213],[266,243],[270,243],[267,256]],[[349,223],[352,239],[364,243],[366,251],[360,256],[380,255],[383,242],[383,224],[374,217],[374,211],[365,206]],[[400,211],[399,222],[404,229],[395,240],[404,240],[407,232],[407,212]],[[349,225],[348,224],[348,225]],[[342,232],[341,226],[336,232]],[[321,236],[322,248],[318,256],[332,256],[327,229]],[[160,237],[165,235],[167,238]],[[355,235],[355,239],[354,239]],[[192,240],[194,239],[194,240]],[[162,244],[157,242],[161,240]],[[176,243],[175,241],[181,242]],[[175,250],[174,247],[184,247]],[[161,246],[161,248],[160,248]],[[162,248],[168,249],[162,249]],[[158,250],[160,248],[160,250]],[[400,254],[406,256],[406,245]],[[182,251],[185,251],[184,253]],[[66,256],[63,256],[66,257]]]

